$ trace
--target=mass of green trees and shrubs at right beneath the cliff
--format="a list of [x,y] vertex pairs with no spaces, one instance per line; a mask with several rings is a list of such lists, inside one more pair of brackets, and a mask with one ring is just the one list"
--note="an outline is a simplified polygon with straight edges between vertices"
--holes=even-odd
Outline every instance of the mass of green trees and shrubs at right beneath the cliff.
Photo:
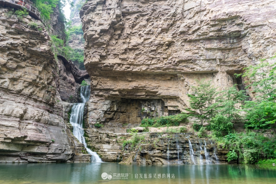
[[[272,57],[272,58],[275,58]],[[249,129],[272,129],[275,131],[276,121],[276,64],[265,60],[256,66],[249,66],[244,73],[235,74],[244,77],[247,92],[254,93],[255,99],[248,100],[245,90],[237,86],[217,91],[210,82],[199,82],[189,94],[190,117],[197,119],[194,129],[203,136],[205,129],[212,131],[211,137],[218,145],[228,148],[227,160],[239,159],[245,164],[258,162],[261,158],[276,158],[276,139],[267,138]],[[237,107],[241,107],[238,109]],[[233,132],[234,123],[245,123],[247,133]],[[206,127],[203,123],[208,123]],[[260,161],[260,163],[266,161]]]

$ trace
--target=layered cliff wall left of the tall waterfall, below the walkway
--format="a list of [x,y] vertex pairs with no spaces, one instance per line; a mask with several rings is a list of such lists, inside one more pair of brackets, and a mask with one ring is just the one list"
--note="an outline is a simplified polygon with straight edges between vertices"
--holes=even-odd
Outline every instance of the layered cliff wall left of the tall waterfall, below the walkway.
[[30,16],[8,17],[11,10],[0,6],[0,162],[89,161],[63,120],[48,33],[31,29]]

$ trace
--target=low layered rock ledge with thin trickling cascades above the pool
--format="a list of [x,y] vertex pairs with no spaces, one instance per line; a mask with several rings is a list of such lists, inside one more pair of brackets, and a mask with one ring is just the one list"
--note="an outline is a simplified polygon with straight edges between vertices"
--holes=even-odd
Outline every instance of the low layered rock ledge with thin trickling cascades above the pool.
[[[133,150],[131,145],[122,147],[123,141],[130,140],[133,134],[97,131],[94,128],[86,129],[85,132],[88,147],[97,152],[104,162],[153,165],[194,164],[190,155],[190,140],[196,163],[199,163],[200,155],[202,162],[206,163],[205,142],[208,158],[212,160],[212,163],[227,163],[225,156],[228,153],[227,150],[216,148],[216,144],[208,138],[198,138],[193,133],[138,133],[138,136],[144,136],[144,140]],[[200,149],[200,144],[204,145],[203,150]]]

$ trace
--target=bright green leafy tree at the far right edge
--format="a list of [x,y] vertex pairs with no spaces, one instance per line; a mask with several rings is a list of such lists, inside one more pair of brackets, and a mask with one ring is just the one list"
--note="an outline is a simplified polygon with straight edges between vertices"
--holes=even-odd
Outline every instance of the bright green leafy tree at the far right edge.
[[246,112],[245,126],[254,129],[273,128],[276,133],[276,65],[264,61],[245,68],[243,74],[237,75],[249,79],[246,81],[246,89],[251,88],[256,98],[254,101],[245,101],[243,106]]

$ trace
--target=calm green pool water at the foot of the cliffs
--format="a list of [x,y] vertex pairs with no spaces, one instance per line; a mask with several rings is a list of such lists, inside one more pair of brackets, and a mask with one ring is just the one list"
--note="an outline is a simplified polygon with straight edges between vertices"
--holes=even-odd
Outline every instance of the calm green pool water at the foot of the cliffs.
[[[106,174],[103,174],[104,172]],[[106,179],[102,178],[102,174],[103,176],[106,176]],[[112,178],[109,179],[107,177],[108,175],[109,178],[111,178],[111,176]],[[0,183],[275,184],[276,166],[122,165],[118,163],[13,163],[0,164]]]

